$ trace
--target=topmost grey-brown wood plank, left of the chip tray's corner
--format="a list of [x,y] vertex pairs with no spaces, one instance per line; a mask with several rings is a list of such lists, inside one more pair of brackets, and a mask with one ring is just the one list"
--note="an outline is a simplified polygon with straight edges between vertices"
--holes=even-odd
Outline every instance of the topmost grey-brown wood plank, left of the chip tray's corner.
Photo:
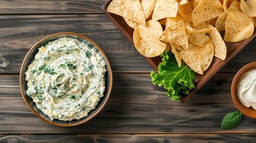
[[75,1],[28,1],[1,0],[0,14],[64,14],[64,13],[103,13],[104,0]]

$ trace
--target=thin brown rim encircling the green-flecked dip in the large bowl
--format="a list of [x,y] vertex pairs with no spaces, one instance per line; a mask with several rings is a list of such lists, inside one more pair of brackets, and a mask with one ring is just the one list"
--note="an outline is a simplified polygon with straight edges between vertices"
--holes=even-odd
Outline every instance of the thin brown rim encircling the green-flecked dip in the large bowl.
[[[90,117],[88,117],[87,119],[84,119],[84,120],[81,120],[81,122],[78,122],[78,123],[71,123],[71,124],[61,124],[61,123],[54,123],[54,122],[51,122],[50,120],[46,120],[44,119],[44,117],[41,117],[29,104],[29,102],[27,102],[26,100],[26,95],[24,94],[24,91],[23,91],[23,84],[22,84],[22,77],[23,77],[23,73],[24,72],[24,64],[25,64],[25,61],[27,59],[27,57],[29,57],[30,55],[30,52],[38,47],[38,45],[41,45],[40,43],[42,41],[44,41],[45,39],[48,39],[48,38],[52,38],[54,36],[57,36],[57,35],[74,35],[74,36],[78,36],[80,38],[83,38],[89,42],[92,43],[92,45],[94,45],[98,51],[100,51],[100,54],[103,55],[104,59],[106,60],[106,66],[107,66],[107,69],[108,69],[108,73],[109,73],[109,90],[107,91],[106,93],[106,100],[101,103],[101,107],[100,108],[97,108],[97,109],[94,109],[94,110],[97,110],[94,114],[91,114]],[[78,33],[73,33],[73,32],[60,32],[60,33],[55,33],[53,35],[50,35],[50,36],[47,36],[43,39],[41,39],[39,42],[37,42],[35,45],[32,46],[32,48],[29,49],[29,51],[27,52],[26,56],[24,57],[24,60],[21,64],[21,69],[20,69],[20,77],[19,77],[19,80],[20,80],[20,91],[21,91],[21,95],[22,95],[22,98],[24,100],[24,102],[26,103],[27,107],[29,107],[29,109],[36,115],[39,117],[39,119],[43,120],[44,122],[47,122],[47,123],[50,123],[51,125],[55,125],[55,126],[77,126],[77,125],[81,125],[82,123],[85,123],[85,122],[88,122],[88,120],[91,120],[93,117],[95,117],[98,113],[100,113],[100,111],[104,108],[104,106],[106,105],[107,101],[109,100],[109,97],[110,97],[110,93],[112,91],[112,85],[113,85],[113,76],[112,76],[112,69],[111,69],[111,66],[110,66],[110,63],[109,63],[109,60],[106,56],[106,54],[103,52],[103,50],[100,48],[100,46],[97,45],[97,43],[95,43],[94,41],[92,41],[90,38],[87,38],[86,36],[84,35],[81,35],[81,34],[78,34]],[[63,121],[64,122],[64,121]]]

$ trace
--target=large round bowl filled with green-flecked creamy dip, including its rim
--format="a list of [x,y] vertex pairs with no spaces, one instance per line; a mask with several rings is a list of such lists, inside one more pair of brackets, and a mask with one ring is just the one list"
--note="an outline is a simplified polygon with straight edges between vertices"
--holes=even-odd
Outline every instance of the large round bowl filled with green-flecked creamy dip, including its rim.
[[47,123],[76,126],[96,116],[112,89],[112,70],[91,39],[63,32],[47,36],[27,52],[20,91],[27,107]]

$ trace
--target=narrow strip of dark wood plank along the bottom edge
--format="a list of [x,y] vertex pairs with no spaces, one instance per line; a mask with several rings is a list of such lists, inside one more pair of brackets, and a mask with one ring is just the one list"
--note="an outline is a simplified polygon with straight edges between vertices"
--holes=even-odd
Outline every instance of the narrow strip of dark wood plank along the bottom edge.
[[112,142],[112,143],[158,143],[158,142],[202,142],[202,143],[222,143],[222,142],[254,142],[256,139],[255,134],[153,134],[153,135],[140,135],[140,134],[121,134],[121,135],[38,135],[38,134],[21,134],[21,135],[0,135],[0,142],[63,142],[63,143],[79,143],[79,142]]

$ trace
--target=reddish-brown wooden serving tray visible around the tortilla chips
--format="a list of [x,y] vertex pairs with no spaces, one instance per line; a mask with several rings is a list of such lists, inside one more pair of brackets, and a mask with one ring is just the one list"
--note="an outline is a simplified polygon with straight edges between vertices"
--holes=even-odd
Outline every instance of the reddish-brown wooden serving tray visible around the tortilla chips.
[[[107,1],[101,8],[106,13],[106,15],[110,18],[110,20],[113,21],[113,23],[118,27],[119,30],[124,34],[124,36],[128,39],[129,42],[134,45],[134,42],[132,40],[132,35],[134,32],[134,29],[129,27],[128,24],[125,22],[124,18],[122,18],[119,15],[108,13],[107,7],[109,6],[110,2],[112,0]],[[204,71],[203,75],[196,73],[196,78],[193,81],[195,84],[195,89],[193,89],[189,95],[183,95],[181,97],[181,102],[185,103],[187,102],[192,95],[196,94],[196,92],[209,80],[212,76],[214,76],[215,73],[217,73],[218,70],[221,69],[227,62],[229,62],[238,52],[243,49],[247,43],[249,43],[254,37],[256,36],[256,32],[242,42],[232,43],[232,42],[225,42],[227,46],[227,57],[226,60],[220,60],[219,58],[214,57],[212,59],[211,66]],[[141,55],[143,56],[143,55]],[[154,58],[146,58],[146,60],[149,62],[149,64],[158,71],[158,64],[161,62],[161,57],[154,57]]]

